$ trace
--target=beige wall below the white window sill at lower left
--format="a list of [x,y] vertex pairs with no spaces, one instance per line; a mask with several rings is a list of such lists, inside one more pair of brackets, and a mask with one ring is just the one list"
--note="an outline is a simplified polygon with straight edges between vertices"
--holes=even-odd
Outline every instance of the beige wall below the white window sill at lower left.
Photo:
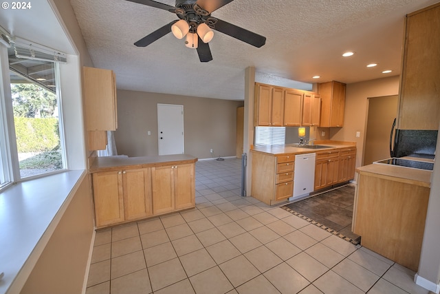
[[86,176],[20,293],[81,293],[93,223],[90,181]]

